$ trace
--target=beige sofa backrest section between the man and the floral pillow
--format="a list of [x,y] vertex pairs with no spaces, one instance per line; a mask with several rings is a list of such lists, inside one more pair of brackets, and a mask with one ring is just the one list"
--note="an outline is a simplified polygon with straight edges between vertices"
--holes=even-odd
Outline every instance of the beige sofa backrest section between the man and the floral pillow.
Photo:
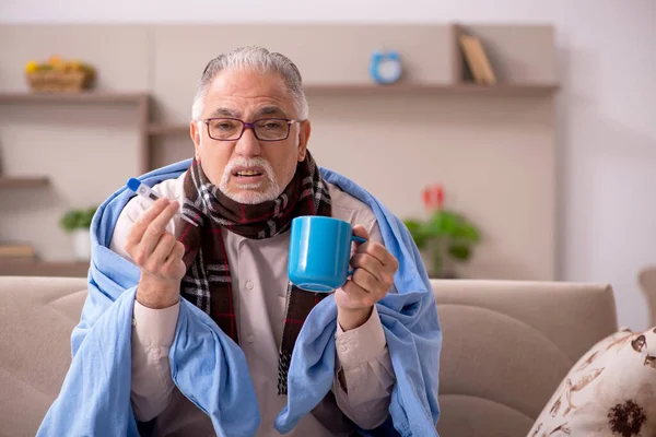
[[609,285],[432,283],[444,334],[441,436],[525,436],[572,365],[618,330]]

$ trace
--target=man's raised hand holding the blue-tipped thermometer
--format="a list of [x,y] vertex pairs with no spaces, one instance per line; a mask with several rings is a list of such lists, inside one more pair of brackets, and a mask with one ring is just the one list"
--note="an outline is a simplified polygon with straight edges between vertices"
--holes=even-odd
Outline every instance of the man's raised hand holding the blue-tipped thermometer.
[[177,201],[157,200],[134,222],[126,239],[126,251],[141,268],[137,300],[149,308],[168,308],[179,300],[187,271],[185,246],[166,231],[178,208]]

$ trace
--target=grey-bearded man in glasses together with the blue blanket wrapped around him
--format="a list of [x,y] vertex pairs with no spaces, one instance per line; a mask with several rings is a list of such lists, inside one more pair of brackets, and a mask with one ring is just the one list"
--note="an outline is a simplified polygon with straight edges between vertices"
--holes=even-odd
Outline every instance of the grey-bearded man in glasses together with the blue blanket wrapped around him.
[[[73,361],[39,436],[436,435],[442,333],[421,257],[371,194],[319,170],[307,111],[284,56],[210,61],[194,158],[141,177],[156,202],[121,189],[98,208]],[[331,294],[289,282],[302,215],[365,240]]]

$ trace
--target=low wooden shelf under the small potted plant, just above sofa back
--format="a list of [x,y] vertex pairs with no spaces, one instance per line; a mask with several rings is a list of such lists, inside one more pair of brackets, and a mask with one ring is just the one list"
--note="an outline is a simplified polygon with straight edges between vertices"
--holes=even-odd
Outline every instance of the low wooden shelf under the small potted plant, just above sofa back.
[[0,258],[0,276],[86,277],[89,262]]

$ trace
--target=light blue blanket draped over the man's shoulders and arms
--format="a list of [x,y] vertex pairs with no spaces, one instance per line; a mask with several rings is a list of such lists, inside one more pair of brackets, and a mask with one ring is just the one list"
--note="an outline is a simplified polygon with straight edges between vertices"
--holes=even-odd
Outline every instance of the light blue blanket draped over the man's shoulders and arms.
[[[179,176],[189,165],[190,160],[184,161],[140,179],[153,186]],[[395,293],[377,304],[396,374],[390,420],[362,434],[436,436],[442,330],[419,251],[403,224],[364,189],[333,172],[320,172],[327,181],[373,209],[387,249],[399,260]],[[94,216],[89,296],[71,335],[72,363],[37,436],[139,435],[130,404],[131,320],[139,269],[108,248],[116,221],[132,196],[125,188],[118,190]],[[335,299],[324,299],[309,314],[296,341],[288,404],[276,421],[281,434],[292,430],[330,390],[336,328]],[[176,386],[210,416],[219,436],[256,434],[260,417],[242,350],[185,299],[180,299],[168,357]]]

